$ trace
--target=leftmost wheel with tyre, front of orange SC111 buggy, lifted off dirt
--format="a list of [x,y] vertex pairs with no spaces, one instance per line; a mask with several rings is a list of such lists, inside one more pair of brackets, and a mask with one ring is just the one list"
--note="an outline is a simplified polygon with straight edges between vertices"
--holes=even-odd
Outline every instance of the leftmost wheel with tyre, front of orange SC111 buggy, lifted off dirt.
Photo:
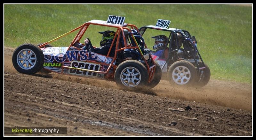
[[14,68],[24,74],[35,74],[43,68],[43,51],[34,44],[22,44],[13,52]]

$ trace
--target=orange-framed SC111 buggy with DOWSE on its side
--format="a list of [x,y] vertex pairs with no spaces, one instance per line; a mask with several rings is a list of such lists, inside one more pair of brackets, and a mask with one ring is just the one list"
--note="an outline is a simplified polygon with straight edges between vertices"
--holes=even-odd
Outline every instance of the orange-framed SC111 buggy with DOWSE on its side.
[[[80,40],[90,25],[116,28],[116,34],[107,55],[84,50]],[[130,29],[128,28],[130,27]],[[79,30],[69,47],[52,47],[49,43]],[[116,40],[115,55],[109,56]],[[137,90],[155,87],[161,79],[161,68],[132,24],[115,24],[91,20],[46,43],[22,44],[13,53],[14,68],[25,74],[44,69],[64,75],[100,78],[115,81],[122,89]]]

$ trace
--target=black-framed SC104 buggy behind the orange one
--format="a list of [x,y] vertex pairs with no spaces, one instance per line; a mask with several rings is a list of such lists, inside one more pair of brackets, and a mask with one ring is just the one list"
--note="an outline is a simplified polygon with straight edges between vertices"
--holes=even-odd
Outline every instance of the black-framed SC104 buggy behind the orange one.
[[149,29],[170,32],[163,56],[154,56],[155,52],[152,50],[151,53],[172,85],[203,87],[209,82],[211,72],[197,49],[195,36],[191,36],[186,30],[156,26],[141,27],[141,36]]

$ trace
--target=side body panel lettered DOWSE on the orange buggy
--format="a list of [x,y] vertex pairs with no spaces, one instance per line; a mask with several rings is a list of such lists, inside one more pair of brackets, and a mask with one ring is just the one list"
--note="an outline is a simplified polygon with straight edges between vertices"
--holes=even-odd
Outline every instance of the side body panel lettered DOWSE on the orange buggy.
[[[83,77],[104,78],[105,74],[66,69],[61,66],[83,68],[96,71],[107,71],[112,57],[106,57],[87,50],[77,50],[73,47],[50,47],[41,48],[44,53],[44,69],[60,74],[76,75]],[[68,49],[68,50],[67,50]],[[111,66],[109,73],[113,75],[115,61]],[[113,77],[112,77],[113,78]]]

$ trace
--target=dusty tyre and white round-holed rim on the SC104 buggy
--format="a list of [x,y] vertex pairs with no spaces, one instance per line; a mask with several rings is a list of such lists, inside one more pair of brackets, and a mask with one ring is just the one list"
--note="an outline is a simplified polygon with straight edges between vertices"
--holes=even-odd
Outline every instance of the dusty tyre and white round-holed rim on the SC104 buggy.
[[172,85],[188,86],[195,84],[197,72],[192,63],[180,60],[169,67],[167,77]]

